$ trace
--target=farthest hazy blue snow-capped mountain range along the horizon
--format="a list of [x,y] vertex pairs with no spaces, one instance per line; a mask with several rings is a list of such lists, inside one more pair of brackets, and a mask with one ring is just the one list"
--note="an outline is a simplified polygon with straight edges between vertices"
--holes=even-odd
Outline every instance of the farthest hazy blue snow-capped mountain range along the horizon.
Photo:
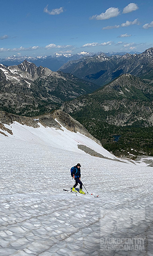
[[[62,54],[62,53],[56,53],[53,56],[37,56],[37,57],[31,57],[31,56],[9,56],[7,58],[0,58],[0,63],[6,66],[13,66],[13,65],[19,65],[24,60],[28,60],[30,62],[33,62],[36,66],[42,66],[46,67],[52,71],[57,71],[61,68],[61,66],[64,65],[64,63],[70,61],[70,60],[78,60],[81,58],[88,58],[93,55],[99,55],[101,52],[98,53],[90,53],[90,52],[80,52],[77,54]],[[130,52],[135,53],[135,52]],[[107,52],[107,56],[112,55],[124,55],[126,52]]]

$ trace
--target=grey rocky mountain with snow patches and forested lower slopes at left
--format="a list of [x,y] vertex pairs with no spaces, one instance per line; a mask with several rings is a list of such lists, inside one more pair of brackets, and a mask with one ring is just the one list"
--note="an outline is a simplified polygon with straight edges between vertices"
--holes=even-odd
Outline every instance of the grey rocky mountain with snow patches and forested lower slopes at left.
[[36,115],[59,108],[63,101],[91,93],[98,86],[71,74],[53,72],[24,60],[0,65],[0,110]]

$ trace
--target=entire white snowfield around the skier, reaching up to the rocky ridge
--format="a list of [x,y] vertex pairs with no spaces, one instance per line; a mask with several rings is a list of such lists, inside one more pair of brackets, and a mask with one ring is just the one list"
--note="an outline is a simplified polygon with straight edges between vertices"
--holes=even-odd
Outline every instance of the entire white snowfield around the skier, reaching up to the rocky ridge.
[[[0,134],[1,256],[153,254],[152,167],[90,156],[77,144],[116,159],[65,128],[5,126],[13,135]],[[63,189],[78,162],[88,194],[76,196]]]

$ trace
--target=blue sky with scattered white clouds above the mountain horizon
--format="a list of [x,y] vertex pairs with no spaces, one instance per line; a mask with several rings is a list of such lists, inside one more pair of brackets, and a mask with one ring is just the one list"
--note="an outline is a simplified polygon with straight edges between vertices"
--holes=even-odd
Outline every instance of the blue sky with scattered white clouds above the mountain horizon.
[[0,1],[0,58],[153,47],[152,1]]

